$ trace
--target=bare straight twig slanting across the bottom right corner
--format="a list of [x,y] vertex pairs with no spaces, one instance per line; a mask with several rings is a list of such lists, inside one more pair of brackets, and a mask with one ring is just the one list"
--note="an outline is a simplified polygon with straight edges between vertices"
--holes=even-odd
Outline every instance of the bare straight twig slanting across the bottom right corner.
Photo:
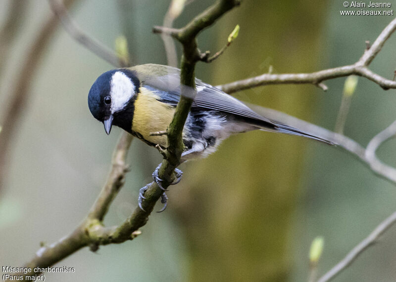
[[336,277],[336,275],[346,269],[363,251],[365,251],[369,246],[373,245],[377,239],[395,222],[396,212],[381,222],[380,225],[378,225],[366,239],[355,246],[342,261],[340,261],[329,272],[322,276],[318,282],[327,282]]

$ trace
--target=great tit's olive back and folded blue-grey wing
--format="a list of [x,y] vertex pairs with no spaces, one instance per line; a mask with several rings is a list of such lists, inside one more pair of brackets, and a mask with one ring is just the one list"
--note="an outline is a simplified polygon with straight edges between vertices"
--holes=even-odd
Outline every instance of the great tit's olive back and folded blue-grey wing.
[[[180,70],[177,68],[146,64],[132,67],[139,80],[148,88],[155,90],[161,100],[170,105],[176,105],[180,99]],[[262,121],[273,127],[276,124],[247,107],[241,101],[224,93],[220,89],[196,79],[197,96],[192,108],[222,111],[239,117]],[[268,124],[267,124],[268,123]]]

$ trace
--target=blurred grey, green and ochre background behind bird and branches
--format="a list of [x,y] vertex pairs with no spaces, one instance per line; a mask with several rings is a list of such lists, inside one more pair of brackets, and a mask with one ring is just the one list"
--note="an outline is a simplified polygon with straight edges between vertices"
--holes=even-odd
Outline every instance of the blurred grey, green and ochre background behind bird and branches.
[[[11,1],[0,0],[0,27]],[[193,1],[175,26],[212,2]],[[396,1],[390,2],[396,8]],[[15,39],[6,41],[10,49],[0,61],[2,109],[51,14],[47,1],[19,3]],[[166,64],[163,43],[151,27],[162,23],[168,5],[168,0],[76,0],[70,14],[110,48],[125,35],[134,64]],[[394,16],[341,16],[343,9],[341,0],[246,0],[199,36],[201,50],[216,51],[235,25],[241,26],[238,39],[218,60],[198,64],[197,77],[217,85],[265,73],[270,65],[275,73],[297,73],[354,63],[364,41],[374,41]],[[372,70],[393,77],[395,45],[394,35]],[[0,266],[22,266],[40,242],[58,240],[84,218],[106,178],[120,134],[114,128],[107,136],[87,106],[93,81],[112,66],[60,26],[44,47],[32,70],[27,106],[15,125],[2,179]],[[234,96],[333,129],[344,81],[327,81],[327,92],[312,85],[273,85]],[[396,119],[395,94],[360,78],[345,134],[365,146]],[[395,141],[384,144],[379,157],[396,165],[395,146]],[[120,223],[131,213],[139,188],[151,181],[160,160],[155,149],[133,141],[132,171],[105,224]],[[47,281],[307,281],[309,245],[316,236],[325,239],[320,275],[396,205],[395,186],[356,159],[294,136],[233,136],[212,156],[181,168],[185,174],[168,193],[167,210],[152,214],[140,237],[101,247],[96,254],[84,248],[58,263],[74,267],[74,274],[47,274]],[[390,229],[335,281],[395,281],[395,236],[395,228]]]

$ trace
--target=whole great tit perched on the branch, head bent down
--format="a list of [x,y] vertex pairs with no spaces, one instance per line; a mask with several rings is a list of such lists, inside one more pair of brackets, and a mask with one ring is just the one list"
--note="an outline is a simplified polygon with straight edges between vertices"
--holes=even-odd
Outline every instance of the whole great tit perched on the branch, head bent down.
[[[319,136],[271,121],[212,85],[198,79],[195,82],[197,94],[183,129],[185,150],[181,162],[213,153],[231,134],[256,129],[298,135],[332,144]],[[88,106],[92,115],[103,122],[107,134],[110,133],[111,126],[116,125],[150,146],[159,145],[165,149],[166,135],[152,133],[167,129],[180,92],[179,69],[156,64],[138,65],[100,75],[89,92]],[[155,169],[153,178],[161,187],[158,169],[159,166]],[[178,182],[180,170],[176,171],[176,176]],[[166,198],[162,200],[164,202]]]

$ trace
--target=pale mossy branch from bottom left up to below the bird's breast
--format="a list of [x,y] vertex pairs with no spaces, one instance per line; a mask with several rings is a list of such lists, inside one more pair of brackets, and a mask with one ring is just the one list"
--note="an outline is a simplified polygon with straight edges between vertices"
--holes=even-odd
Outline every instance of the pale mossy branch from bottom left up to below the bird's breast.
[[91,207],[87,218],[69,235],[48,246],[42,246],[36,252],[35,257],[25,265],[30,267],[32,272],[19,273],[18,275],[24,277],[38,275],[40,272],[34,272],[34,268],[49,267],[85,246],[91,246],[92,250],[97,250],[99,245],[125,242],[137,236],[137,233],[133,234],[133,231],[137,231],[138,228],[129,233],[128,237],[123,234],[123,237],[120,238],[118,227],[105,228],[101,223],[110,203],[124,184],[125,173],[128,170],[125,160],[132,139],[131,134],[122,133],[114,149],[111,169],[106,183],[98,199]]

